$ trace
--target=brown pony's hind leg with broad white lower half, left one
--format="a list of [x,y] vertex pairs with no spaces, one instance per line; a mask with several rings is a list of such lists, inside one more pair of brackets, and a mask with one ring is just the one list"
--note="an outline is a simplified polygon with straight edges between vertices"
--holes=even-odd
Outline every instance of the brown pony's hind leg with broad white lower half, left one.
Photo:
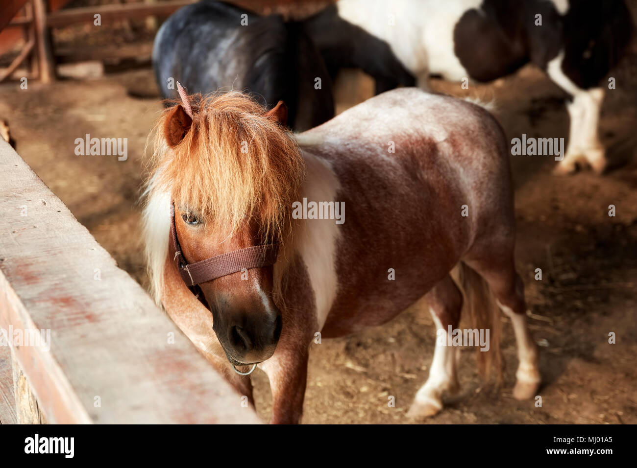
[[[433,416],[443,407],[444,392],[455,392],[458,380],[455,369],[456,348],[447,346],[448,327],[456,329],[462,310],[462,293],[451,276],[436,284],[425,296],[429,302],[429,311],[436,324],[436,348],[431,361],[429,378],[418,390],[407,416],[426,418]],[[441,331],[442,330],[442,331]],[[445,343],[441,343],[445,341]]]

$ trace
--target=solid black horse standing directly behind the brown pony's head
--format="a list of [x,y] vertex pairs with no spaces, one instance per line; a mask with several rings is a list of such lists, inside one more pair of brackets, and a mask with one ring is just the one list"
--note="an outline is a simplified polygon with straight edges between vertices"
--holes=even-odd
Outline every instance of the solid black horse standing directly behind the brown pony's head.
[[284,101],[287,124],[297,131],[334,115],[320,53],[302,23],[279,15],[259,16],[210,0],[184,6],[157,32],[153,66],[164,98],[178,97],[177,81],[191,94],[243,90],[268,108]]

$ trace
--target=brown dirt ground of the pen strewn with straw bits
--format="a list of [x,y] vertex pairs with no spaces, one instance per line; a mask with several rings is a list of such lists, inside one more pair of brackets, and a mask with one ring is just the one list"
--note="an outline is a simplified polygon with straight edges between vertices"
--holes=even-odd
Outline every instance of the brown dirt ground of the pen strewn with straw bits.
[[[637,11],[637,2],[633,2]],[[459,362],[461,392],[446,400],[432,423],[637,423],[637,44],[612,73],[601,116],[601,138],[612,169],[557,178],[550,157],[512,156],[518,227],[517,267],[526,282],[534,337],[540,344],[543,405],[519,402],[511,391],[515,343],[503,319],[505,381],[486,385],[473,352]],[[564,94],[526,67],[490,85],[461,90],[433,80],[455,96],[494,99],[509,139],[568,136]],[[140,238],[142,155],[161,110],[150,69],[104,78],[0,86],[0,118],[10,122],[18,153],[76,218],[145,284]],[[348,74],[338,87],[338,110],[371,96],[371,81]],[[128,159],[76,156],[75,138],[128,138]],[[0,181],[1,181],[0,175]],[[615,205],[617,216],[608,216]],[[541,268],[543,280],[534,280]],[[617,336],[608,343],[609,332]],[[304,423],[407,423],[406,410],[424,383],[435,330],[424,304],[382,327],[312,344]],[[255,399],[267,420],[268,381],[255,372]],[[389,408],[388,397],[396,397]]]

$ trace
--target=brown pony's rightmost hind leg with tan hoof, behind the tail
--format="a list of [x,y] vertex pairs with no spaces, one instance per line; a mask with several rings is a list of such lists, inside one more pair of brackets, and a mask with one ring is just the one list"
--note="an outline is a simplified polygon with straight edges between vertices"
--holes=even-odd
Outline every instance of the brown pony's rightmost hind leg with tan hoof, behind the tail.
[[489,283],[500,310],[511,318],[517,342],[519,365],[515,374],[513,397],[525,400],[537,394],[540,388],[538,350],[526,322],[524,283],[515,271],[513,255],[490,258],[487,261],[466,263]]

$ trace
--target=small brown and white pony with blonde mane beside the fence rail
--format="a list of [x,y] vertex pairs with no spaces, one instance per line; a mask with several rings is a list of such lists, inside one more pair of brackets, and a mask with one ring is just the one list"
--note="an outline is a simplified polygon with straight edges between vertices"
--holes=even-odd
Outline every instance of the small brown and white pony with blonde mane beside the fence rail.
[[[513,261],[508,145],[487,111],[403,88],[294,135],[282,125],[282,105],[266,111],[239,92],[187,101],[155,127],[144,212],[152,290],[241,395],[252,399],[252,387],[234,366],[258,364],[268,374],[273,422],[301,419],[316,332],[381,325],[423,295],[437,329],[457,329],[457,265],[492,349],[499,311],[483,293],[512,319],[520,361],[513,394],[536,394],[538,353]],[[292,204],[303,199],[344,202],[345,222],[328,211],[297,219]],[[181,254],[169,239],[172,202]],[[202,283],[196,294],[175,263],[269,242],[280,246],[273,266]],[[440,411],[443,392],[457,385],[455,349],[437,341],[410,416]]]

